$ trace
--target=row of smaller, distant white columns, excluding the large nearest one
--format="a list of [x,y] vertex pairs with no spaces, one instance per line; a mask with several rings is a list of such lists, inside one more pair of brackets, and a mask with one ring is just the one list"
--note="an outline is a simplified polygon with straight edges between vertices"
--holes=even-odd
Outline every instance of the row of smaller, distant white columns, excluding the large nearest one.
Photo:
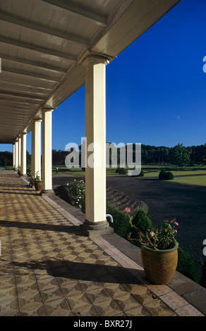
[[[32,120],[32,175],[42,178],[42,194],[52,190],[52,111],[42,109],[42,120]],[[41,139],[42,123],[42,139]],[[13,168],[26,175],[26,137],[21,134],[13,144]],[[41,153],[42,151],[42,153]]]

